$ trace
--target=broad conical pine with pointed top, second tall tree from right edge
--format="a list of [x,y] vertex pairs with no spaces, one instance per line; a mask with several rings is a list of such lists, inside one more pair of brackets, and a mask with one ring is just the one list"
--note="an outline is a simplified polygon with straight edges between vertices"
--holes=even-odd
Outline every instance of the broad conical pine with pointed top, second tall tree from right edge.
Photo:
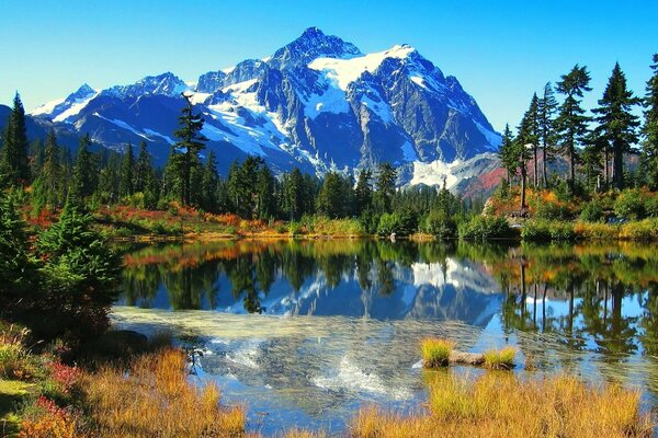
[[[626,88],[626,77],[620,64],[615,64],[603,97],[599,100],[600,106],[592,112],[598,115],[598,136],[612,146],[612,183],[619,189],[624,188],[624,153],[629,152],[631,145],[637,142],[639,120],[632,110],[639,102]],[[608,161],[605,168],[608,169]]]

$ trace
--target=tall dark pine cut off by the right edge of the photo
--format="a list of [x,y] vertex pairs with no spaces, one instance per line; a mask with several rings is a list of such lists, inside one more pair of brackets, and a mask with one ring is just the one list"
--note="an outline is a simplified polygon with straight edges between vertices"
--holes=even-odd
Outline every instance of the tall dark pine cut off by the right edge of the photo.
[[645,96],[645,123],[643,126],[643,158],[647,182],[651,189],[658,189],[658,54],[651,65],[654,74],[647,81]]

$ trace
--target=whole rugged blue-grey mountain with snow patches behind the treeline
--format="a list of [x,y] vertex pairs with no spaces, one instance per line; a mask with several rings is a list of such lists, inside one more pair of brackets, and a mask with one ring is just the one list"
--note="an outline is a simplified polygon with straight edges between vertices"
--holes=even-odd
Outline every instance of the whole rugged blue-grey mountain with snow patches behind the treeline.
[[106,148],[144,139],[162,163],[175,141],[181,92],[203,113],[203,134],[223,172],[248,154],[277,171],[317,174],[388,161],[402,168],[400,184],[441,184],[445,176],[456,189],[490,171],[496,158],[487,152],[500,143],[457,79],[413,47],[362,54],[316,27],[269,58],[209,71],[194,83],[167,72],[102,91],[84,84],[32,115],[90,132]]

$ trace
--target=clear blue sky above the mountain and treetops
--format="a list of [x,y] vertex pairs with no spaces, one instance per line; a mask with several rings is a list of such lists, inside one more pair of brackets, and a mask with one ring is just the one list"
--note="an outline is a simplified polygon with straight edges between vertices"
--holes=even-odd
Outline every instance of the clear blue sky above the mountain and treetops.
[[494,127],[517,125],[534,91],[587,65],[595,104],[615,61],[644,94],[658,1],[4,0],[0,103],[30,111],[75,91],[172,71],[195,80],[265,57],[306,27],[379,51],[407,43],[454,74]]

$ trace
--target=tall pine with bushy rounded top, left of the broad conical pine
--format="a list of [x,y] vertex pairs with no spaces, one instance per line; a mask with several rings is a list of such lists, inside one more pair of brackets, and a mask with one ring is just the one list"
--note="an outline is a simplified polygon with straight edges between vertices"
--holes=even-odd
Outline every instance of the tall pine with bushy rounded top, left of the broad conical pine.
[[557,91],[564,94],[565,101],[559,106],[559,115],[556,119],[557,135],[559,138],[560,152],[569,160],[569,188],[576,191],[576,163],[578,162],[577,147],[587,138],[589,117],[585,115],[581,100],[589,87],[590,76],[587,67],[574,66],[571,71],[561,76],[557,83]]

